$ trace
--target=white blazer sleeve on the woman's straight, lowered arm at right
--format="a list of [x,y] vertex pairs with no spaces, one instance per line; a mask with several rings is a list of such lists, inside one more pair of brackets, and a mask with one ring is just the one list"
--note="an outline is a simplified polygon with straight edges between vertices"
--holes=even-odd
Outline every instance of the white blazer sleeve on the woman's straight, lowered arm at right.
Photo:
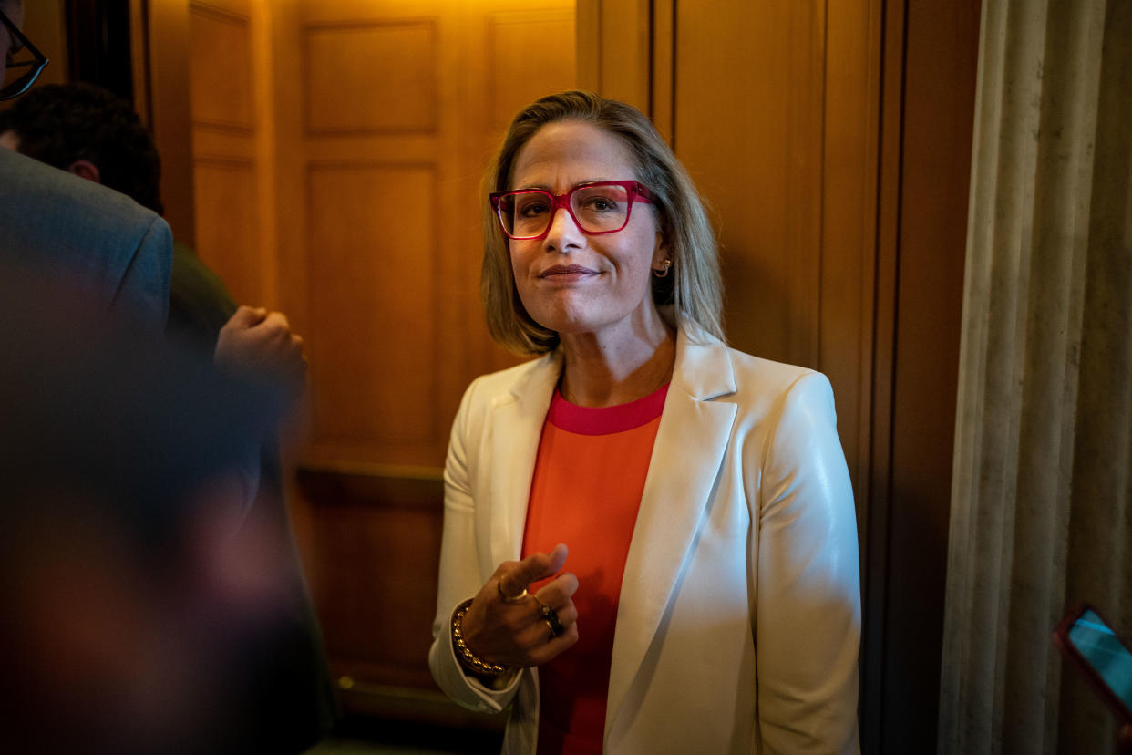
[[860,576],[833,392],[807,372],[763,448],[754,580],[764,753],[857,753]]

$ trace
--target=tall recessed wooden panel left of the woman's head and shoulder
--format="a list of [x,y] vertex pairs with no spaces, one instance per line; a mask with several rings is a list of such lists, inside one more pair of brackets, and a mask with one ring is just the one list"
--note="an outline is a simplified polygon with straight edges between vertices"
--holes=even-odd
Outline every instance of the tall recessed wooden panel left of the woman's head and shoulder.
[[353,461],[403,462],[404,446],[444,435],[436,169],[315,164],[308,197],[315,443]]

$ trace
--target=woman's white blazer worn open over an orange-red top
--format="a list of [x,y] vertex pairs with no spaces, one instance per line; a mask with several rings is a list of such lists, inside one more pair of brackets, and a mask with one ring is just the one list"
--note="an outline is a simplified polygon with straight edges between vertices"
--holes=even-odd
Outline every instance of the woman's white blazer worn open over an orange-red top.
[[[429,666],[462,705],[513,706],[507,755],[535,752],[538,670],[499,689],[465,676],[451,621],[520,558],[560,371],[554,353],[474,380],[445,466]],[[858,568],[829,380],[681,332],[621,583],[604,752],[859,752]]]

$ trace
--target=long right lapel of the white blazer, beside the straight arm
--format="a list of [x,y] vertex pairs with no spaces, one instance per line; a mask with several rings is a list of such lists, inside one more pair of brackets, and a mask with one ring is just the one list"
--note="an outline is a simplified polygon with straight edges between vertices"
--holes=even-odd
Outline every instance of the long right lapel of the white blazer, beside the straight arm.
[[727,451],[737,406],[710,400],[735,389],[727,348],[688,343],[681,331],[621,582],[607,733],[687,565]]

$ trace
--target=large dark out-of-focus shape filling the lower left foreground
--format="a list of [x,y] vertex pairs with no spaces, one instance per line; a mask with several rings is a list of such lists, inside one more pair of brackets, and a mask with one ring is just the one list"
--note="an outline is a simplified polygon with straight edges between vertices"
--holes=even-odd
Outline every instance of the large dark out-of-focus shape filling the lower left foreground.
[[59,291],[0,269],[6,748],[266,752],[243,663],[299,609],[248,504],[280,404]]

